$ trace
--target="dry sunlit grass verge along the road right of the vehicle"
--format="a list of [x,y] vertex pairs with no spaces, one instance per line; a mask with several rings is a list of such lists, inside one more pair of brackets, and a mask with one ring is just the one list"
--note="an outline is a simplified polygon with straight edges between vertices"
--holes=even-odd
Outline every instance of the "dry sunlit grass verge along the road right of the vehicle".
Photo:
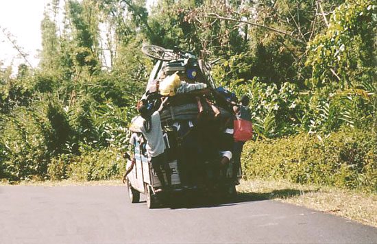
[[243,181],[237,191],[251,199],[274,199],[377,227],[377,195],[373,193],[284,180]]

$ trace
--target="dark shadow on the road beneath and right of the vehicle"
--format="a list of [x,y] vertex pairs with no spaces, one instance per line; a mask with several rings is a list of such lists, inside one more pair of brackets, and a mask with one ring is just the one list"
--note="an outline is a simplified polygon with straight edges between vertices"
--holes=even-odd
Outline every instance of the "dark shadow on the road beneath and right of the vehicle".
[[295,189],[283,189],[271,191],[269,193],[238,193],[235,197],[226,198],[219,196],[204,196],[204,195],[181,195],[166,199],[165,208],[212,208],[232,206],[236,204],[243,204],[246,202],[265,201],[276,198],[289,198],[296,195],[314,191],[299,191]]

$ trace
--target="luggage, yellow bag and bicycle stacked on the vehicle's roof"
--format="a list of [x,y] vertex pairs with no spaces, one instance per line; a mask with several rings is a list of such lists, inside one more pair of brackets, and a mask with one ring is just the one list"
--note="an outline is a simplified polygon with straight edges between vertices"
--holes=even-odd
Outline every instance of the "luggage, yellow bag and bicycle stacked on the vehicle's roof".
[[[158,56],[156,53],[153,55],[143,49],[147,56],[157,59],[157,62],[151,71],[142,99],[147,99],[154,105],[154,108],[158,108],[159,101],[156,103],[156,98],[159,96],[170,97],[171,106],[169,110],[162,111],[162,122],[195,119],[199,112],[195,97],[203,96],[218,103],[223,116],[231,116],[228,112],[231,111],[231,108],[215,90],[212,77],[204,71],[202,60],[198,60],[189,51],[164,50],[168,53],[167,56]],[[171,108],[172,106],[173,108]],[[203,103],[203,106],[206,111],[213,113],[207,103]]]

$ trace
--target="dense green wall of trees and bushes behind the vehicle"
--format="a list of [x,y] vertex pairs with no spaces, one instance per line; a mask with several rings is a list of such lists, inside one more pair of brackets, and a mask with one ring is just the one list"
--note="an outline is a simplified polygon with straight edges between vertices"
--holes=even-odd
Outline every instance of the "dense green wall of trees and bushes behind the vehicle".
[[250,95],[248,177],[376,189],[376,22],[369,0],[51,0],[39,66],[0,69],[0,178],[119,175],[151,43]]

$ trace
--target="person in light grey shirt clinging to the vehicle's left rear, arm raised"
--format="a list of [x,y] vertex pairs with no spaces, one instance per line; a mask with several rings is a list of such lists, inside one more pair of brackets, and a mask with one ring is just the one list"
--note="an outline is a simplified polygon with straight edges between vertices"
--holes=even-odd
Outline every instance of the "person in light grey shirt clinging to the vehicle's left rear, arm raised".
[[[154,171],[157,174],[158,180],[161,182],[161,189],[157,191],[165,190],[171,186],[171,169],[167,162],[167,157],[165,154],[165,141],[162,134],[160,112],[162,108],[167,103],[168,97],[166,97],[158,110],[153,114],[150,114],[147,108],[147,101],[142,100],[137,104],[137,110],[143,118],[143,123],[139,127],[141,133],[146,139],[146,150]],[[165,182],[164,175],[162,174],[162,169],[165,171],[167,176],[167,182]]]

